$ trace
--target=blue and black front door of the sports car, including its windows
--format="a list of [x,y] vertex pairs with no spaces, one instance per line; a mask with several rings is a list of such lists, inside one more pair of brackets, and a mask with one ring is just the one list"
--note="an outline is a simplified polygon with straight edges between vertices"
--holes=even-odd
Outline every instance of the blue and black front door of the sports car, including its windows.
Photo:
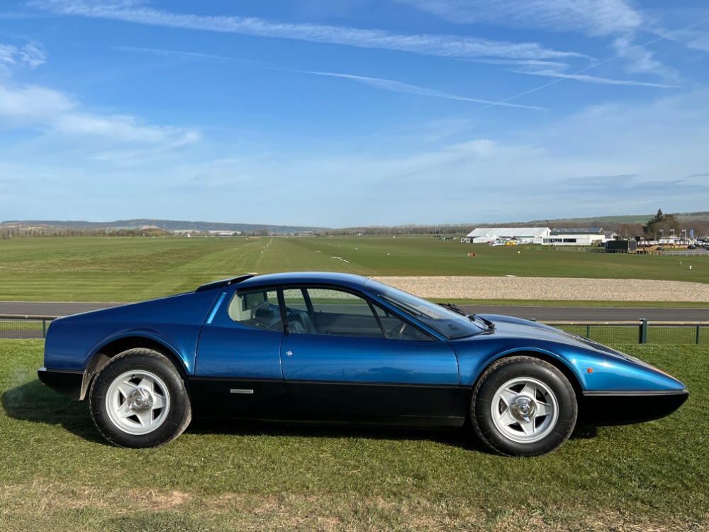
[[361,294],[329,287],[283,291],[286,387],[306,417],[448,416],[458,394],[457,358]]

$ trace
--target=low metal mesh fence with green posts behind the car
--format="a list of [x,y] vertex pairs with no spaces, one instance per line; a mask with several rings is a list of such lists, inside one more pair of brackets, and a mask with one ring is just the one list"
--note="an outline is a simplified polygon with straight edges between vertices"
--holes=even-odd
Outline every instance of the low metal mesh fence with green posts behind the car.
[[[56,316],[1,316],[0,338],[46,338]],[[598,343],[709,344],[709,321],[546,321]]]

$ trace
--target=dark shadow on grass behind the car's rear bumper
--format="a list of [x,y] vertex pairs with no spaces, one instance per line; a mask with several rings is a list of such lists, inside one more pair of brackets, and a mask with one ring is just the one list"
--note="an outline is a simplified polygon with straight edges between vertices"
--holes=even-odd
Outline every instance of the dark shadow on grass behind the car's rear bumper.
[[57,394],[39,380],[7,390],[0,397],[0,402],[11,419],[60,425],[85,440],[108,445],[91,423],[88,402],[73,401]]

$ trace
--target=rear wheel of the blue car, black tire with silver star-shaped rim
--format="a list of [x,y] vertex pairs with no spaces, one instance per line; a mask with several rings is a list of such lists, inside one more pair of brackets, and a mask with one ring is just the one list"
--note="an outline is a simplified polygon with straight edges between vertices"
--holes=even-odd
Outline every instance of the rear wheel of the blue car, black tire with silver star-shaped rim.
[[91,384],[89,409],[101,436],[118,447],[160,447],[182,434],[192,418],[177,368],[145,348],[108,361]]

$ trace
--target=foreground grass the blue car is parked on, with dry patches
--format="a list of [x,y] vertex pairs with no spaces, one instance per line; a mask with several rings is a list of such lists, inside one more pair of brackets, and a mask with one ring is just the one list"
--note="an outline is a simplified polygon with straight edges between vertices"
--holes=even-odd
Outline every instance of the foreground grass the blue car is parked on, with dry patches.
[[104,443],[40,385],[41,340],[0,340],[0,530],[701,531],[709,348],[621,346],[679,377],[679,411],[491,455],[469,431],[193,423],[165,448]]

